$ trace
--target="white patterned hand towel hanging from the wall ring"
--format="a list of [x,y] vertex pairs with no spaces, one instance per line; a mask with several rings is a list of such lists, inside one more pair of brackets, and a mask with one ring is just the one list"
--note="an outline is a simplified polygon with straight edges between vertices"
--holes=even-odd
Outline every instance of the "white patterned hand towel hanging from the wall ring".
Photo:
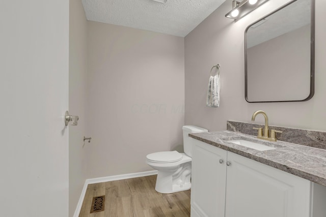
[[210,76],[208,82],[207,101],[208,107],[220,106],[220,75]]

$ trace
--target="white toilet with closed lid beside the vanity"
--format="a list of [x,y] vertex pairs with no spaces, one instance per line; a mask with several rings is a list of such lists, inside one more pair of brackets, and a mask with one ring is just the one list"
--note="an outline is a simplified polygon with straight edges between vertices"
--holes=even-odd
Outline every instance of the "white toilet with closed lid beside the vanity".
[[155,190],[169,194],[186,191],[191,188],[192,140],[189,133],[205,133],[208,130],[196,126],[183,126],[183,149],[178,151],[160,151],[146,156],[146,163],[158,171]]

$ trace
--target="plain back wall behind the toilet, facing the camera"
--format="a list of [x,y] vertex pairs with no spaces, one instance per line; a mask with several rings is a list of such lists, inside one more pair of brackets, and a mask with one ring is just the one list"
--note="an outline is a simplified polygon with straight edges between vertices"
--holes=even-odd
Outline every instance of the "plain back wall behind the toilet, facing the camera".
[[184,39],[88,22],[87,178],[153,170],[182,144]]

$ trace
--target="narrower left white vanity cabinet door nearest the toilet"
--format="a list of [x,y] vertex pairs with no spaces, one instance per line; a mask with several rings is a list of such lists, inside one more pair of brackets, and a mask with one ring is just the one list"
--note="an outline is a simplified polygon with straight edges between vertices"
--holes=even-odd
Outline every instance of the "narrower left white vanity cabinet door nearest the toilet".
[[227,151],[193,142],[191,216],[224,217]]

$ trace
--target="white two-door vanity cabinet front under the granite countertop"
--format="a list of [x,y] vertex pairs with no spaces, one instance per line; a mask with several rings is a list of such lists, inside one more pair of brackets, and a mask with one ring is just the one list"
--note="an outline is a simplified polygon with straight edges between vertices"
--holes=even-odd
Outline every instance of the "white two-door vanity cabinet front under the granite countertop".
[[194,144],[192,217],[311,216],[309,180],[199,140]]

